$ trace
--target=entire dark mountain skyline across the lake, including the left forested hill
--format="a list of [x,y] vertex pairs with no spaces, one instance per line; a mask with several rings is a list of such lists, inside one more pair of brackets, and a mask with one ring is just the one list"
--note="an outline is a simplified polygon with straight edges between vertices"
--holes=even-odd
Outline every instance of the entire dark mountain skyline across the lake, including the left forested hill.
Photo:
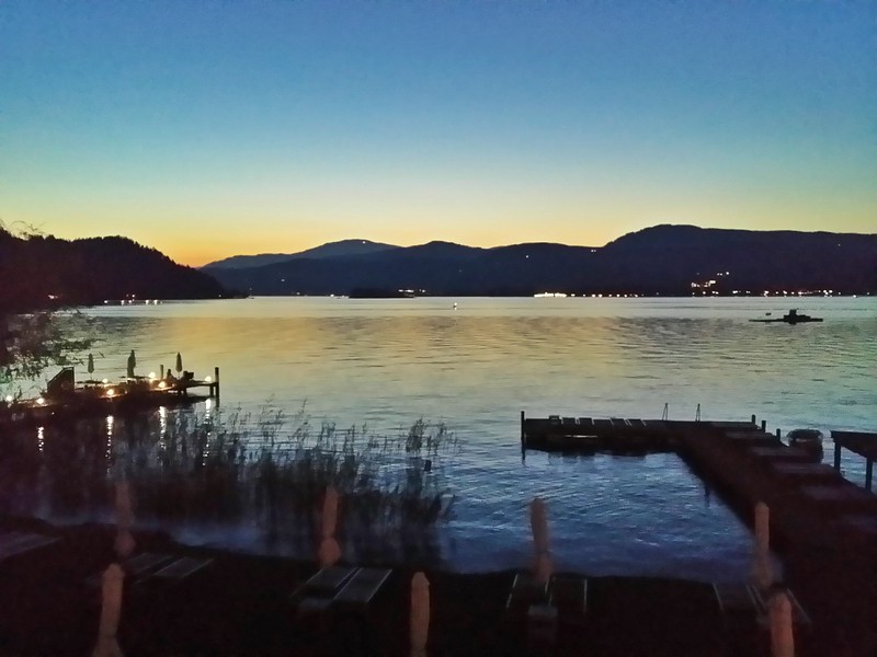
[[396,246],[345,240],[300,253],[235,256],[200,270],[127,238],[19,237],[0,226],[0,313],[106,299],[244,295],[688,296],[764,290],[877,293],[877,235],[657,226],[600,247]]

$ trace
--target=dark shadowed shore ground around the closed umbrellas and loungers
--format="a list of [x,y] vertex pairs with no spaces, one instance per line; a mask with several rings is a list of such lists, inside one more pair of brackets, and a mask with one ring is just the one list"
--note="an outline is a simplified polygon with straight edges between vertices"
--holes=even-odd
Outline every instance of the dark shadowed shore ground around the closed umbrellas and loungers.
[[[2,529],[60,540],[0,561],[0,655],[90,655],[100,618],[101,589],[94,576],[113,560],[114,528],[58,529],[7,518]],[[316,563],[185,548],[160,534],[136,539],[141,552],[213,561],[174,585],[126,581],[117,634],[126,655],[409,654],[411,568],[394,568],[365,616],[296,623],[289,595],[317,570]],[[754,629],[742,643],[729,639],[713,589],[702,583],[590,578],[586,621],[559,619],[551,652],[528,646],[524,619],[505,612],[514,573],[426,570],[426,577],[432,656],[730,657],[758,655],[766,646],[764,633]]]

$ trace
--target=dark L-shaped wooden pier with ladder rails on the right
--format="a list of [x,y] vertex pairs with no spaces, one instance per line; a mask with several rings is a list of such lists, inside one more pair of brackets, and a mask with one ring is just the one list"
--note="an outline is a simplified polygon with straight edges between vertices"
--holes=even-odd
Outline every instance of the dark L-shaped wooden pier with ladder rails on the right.
[[[873,654],[877,633],[877,496],[870,492],[877,434],[832,431],[835,468],[821,453],[789,447],[766,423],[669,419],[528,418],[521,413],[521,448],[567,453],[674,451],[750,527],[759,502],[770,509],[771,541],[782,556],[784,584],[824,645],[806,655]],[[866,487],[840,472],[840,450],[866,459]],[[661,504],[656,499],[656,504]],[[806,637],[804,637],[806,642]],[[846,652],[842,652],[846,650]]]

